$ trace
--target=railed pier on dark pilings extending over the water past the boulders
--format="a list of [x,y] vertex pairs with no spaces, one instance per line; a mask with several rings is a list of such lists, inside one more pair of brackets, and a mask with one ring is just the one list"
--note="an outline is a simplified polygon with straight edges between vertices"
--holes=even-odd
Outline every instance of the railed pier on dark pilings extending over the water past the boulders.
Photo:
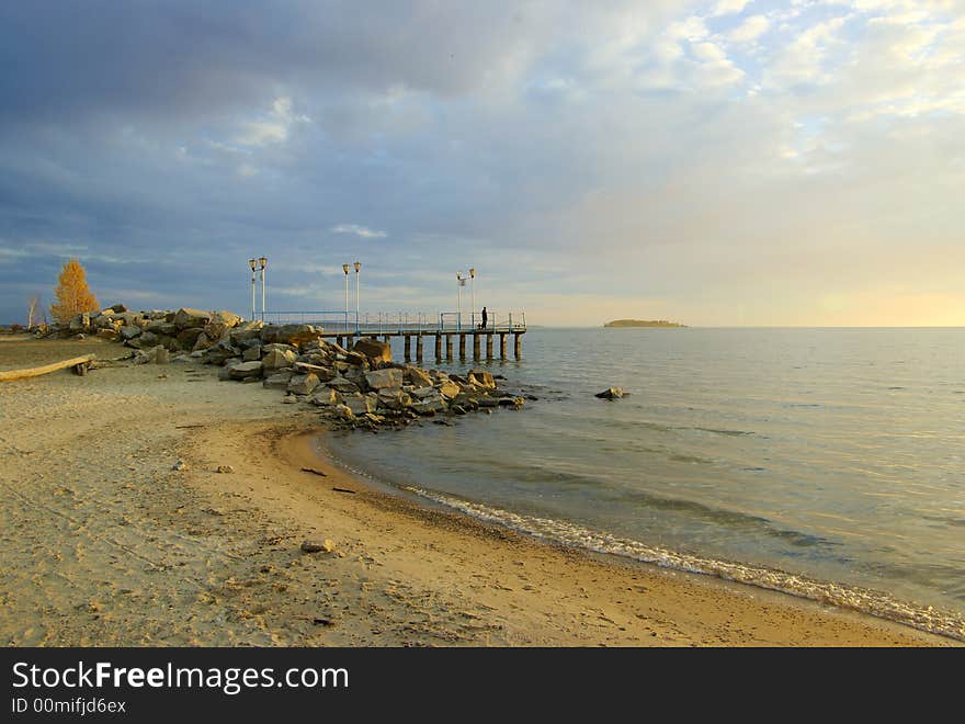
[[[402,338],[402,352],[406,362],[413,359],[422,361],[425,337],[433,338],[433,351],[438,361],[453,360],[454,347],[458,344],[458,359],[466,358],[466,340],[473,340],[473,360],[481,360],[485,341],[485,359],[496,359],[493,342],[499,338],[499,359],[507,359],[509,343],[512,342],[513,357],[522,355],[522,337],[526,333],[524,312],[499,315],[488,312],[486,327],[481,327],[478,314],[442,312],[438,315],[378,313],[356,315],[344,312],[265,312],[261,315],[266,325],[313,325],[321,328],[321,336],[334,339],[345,349],[351,348],[360,337],[382,339],[391,343],[393,337]],[[512,339],[510,340],[510,337]]]

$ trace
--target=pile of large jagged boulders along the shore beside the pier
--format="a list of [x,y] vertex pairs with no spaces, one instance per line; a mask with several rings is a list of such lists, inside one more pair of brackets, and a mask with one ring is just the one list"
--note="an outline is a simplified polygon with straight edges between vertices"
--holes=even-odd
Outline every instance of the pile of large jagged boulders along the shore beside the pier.
[[[69,333],[95,333],[135,348],[136,363],[196,361],[222,367],[225,381],[261,383],[322,408],[336,427],[399,427],[439,414],[518,409],[523,397],[500,392],[485,370],[446,374],[391,361],[391,348],[360,338],[351,350],[311,325],[265,326],[230,312],[128,312],[115,305],[78,315]],[[287,401],[287,400],[286,400]]]

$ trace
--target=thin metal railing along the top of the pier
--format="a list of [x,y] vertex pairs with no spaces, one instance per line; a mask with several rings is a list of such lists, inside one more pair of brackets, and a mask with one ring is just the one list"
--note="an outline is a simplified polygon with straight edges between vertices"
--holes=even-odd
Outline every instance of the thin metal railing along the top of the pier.
[[440,312],[429,315],[420,312],[265,312],[261,317],[271,325],[315,325],[328,333],[347,335],[433,335],[446,332],[524,332],[526,314],[499,314],[487,309],[487,324],[478,312]]

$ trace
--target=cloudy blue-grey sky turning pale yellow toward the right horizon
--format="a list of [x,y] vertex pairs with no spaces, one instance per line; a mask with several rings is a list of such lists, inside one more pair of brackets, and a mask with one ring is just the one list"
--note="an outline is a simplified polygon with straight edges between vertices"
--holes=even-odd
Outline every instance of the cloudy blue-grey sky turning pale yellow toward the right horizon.
[[963,59],[965,0],[5,2],[0,321],[71,257],[247,316],[265,256],[270,310],[965,325]]

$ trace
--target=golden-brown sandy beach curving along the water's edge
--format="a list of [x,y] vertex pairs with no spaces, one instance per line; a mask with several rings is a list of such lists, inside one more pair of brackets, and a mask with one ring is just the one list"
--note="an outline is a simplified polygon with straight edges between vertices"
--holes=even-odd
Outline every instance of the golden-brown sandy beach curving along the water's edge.
[[[100,340],[0,340],[0,370],[126,351]],[[0,641],[957,645],[423,508],[319,457],[317,411],[282,398],[185,363],[0,383]],[[186,467],[172,470],[178,461]],[[216,472],[222,465],[234,472]],[[303,553],[309,538],[330,539],[334,551]]]

